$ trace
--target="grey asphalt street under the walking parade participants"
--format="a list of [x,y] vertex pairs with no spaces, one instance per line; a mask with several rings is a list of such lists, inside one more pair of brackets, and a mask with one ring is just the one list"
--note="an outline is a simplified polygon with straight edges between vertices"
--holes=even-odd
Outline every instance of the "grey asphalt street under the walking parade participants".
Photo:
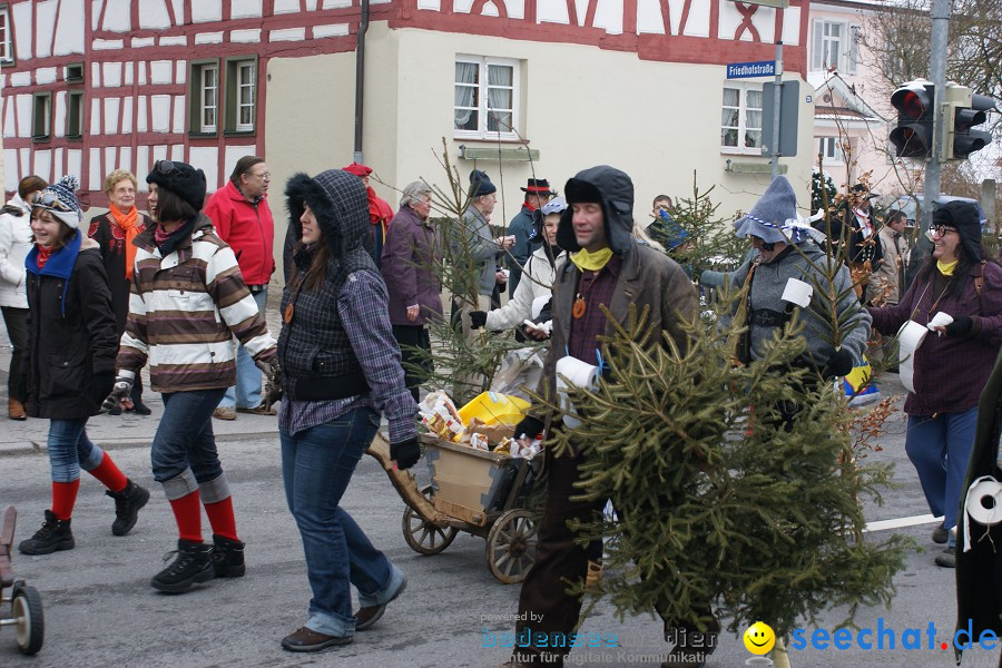
[[[900,414],[887,428],[881,440],[884,450],[871,456],[897,464],[901,488],[886,495],[883,507],[868,508],[868,520],[926,512],[914,471],[904,456]],[[460,534],[434,557],[413,552],[401,533],[403,502],[367,456],[347,490],[344,507],[407,573],[407,590],[373,630],[360,632],[350,646],[317,655],[283,651],[278,641],[305,620],[310,590],[298,533],[283,497],[277,438],[228,441],[219,448],[229,472],[238,529],[247,542],[245,578],[210,581],[183,596],[150,589],[150,576],[161,568],[164,553],[173,549],[174,521],[150,479],[148,451],[118,448],[112,452],[121,469],[154,490],[150,504],[129,536],[116,538],[110,532],[114,503],[85,475],[73,515],[77,548],[46,557],[14,554],[17,576],[42,593],[45,647],[33,658],[22,657],[13,631],[4,627],[0,629],[0,666],[480,667],[507,659],[509,650],[497,644],[504,641],[499,633],[513,628],[505,616],[517,611],[518,586],[501,584],[490,574],[480,538]],[[41,511],[48,508],[48,471],[43,453],[0,455],[0,503],[18,505],[19,539],[38,528]],[[908,558],[896,578],[898,592],[890,609],[864,608],[856,618],[859,627],[872,629],[882,618],[883,627],[895,632],[895,649],[885,645],[884,649],[866,650],[853,642],[851,649],[818,650],[808,645],[803,650],[792,649],[795,668],[953,665],[953,652],[939,648],[954,628],[953,572],[933,564],[939,548],[929,540],[931,528],[900,529],[929,551]],[[831,611],[816,625],[805,622],[808,640],[816,629],[833,630],[842,612]],[[936,649],[926,648],[930,622],[937,630]],[[923,649],[901,647],[906,629],[921,631]],[[571,655],[572,664],[658,665],[666,651],[659,622],[646,616],[620,621],[608,606],[599,606],[582,631],[603,637],[617,633],[618,647],[578,650]],[[495,647],[484,647],[491,641]],[[998,651],[970,651],[963,666],[995,666]],[[725,633],[708,666],[744,666],[749,657],[738,637]]]

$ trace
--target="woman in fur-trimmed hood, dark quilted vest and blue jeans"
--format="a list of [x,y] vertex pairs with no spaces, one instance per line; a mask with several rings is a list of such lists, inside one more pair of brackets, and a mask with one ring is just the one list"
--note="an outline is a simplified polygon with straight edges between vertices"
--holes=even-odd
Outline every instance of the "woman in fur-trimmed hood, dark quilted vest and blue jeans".
[[[404,383],[386,284],[365,248],[365,186],[330,169],[293,176],[285,195],[289,236],[298,243],[282,295],[285,401],[278,433],[286,500],[303,538],[313,598],[306,623],[282,647],[317,651],[351,642],[406,586],[404,573],[340,503],[382,414],[396,465],[414,465],[418,406]],[[362,606],[354,613],[352,584]]]

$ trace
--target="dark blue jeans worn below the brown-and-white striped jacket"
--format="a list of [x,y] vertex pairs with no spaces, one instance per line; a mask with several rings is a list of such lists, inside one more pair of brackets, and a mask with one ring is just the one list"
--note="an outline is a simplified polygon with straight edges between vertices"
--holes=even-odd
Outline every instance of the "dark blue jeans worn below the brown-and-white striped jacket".
[[222,396],[222,387],[163,394],[164,416],[154,435],[150,461],[154,479],[164,483],[168,499],[180,499],[202,483],[222,478],[213,435],[213,411]]

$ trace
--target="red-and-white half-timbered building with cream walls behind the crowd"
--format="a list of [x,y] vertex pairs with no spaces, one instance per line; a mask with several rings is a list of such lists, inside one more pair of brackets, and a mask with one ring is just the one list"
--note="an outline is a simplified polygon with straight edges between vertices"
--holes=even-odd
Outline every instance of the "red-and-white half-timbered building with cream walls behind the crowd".
[[111,169],[141,180],[180,159],[213,190],[256,154],[273,197],[294,171],[357,158],[395,203],[411,180],[445,183],[444,139],[463,179],[475,165],[499,184],[495,223],[533,174],[559,189],[601,163],[633,177],[638,219],[655,195],[691,196],[694,171],[727,215],[750,207],[769,167],[768,79],[728,80],[726,65],[772,60],[782,40],[802,94],[798,155],[780,161],[807,202],[808,0],[361,1],[0,3],[6,188],[71,173],[101,206]]

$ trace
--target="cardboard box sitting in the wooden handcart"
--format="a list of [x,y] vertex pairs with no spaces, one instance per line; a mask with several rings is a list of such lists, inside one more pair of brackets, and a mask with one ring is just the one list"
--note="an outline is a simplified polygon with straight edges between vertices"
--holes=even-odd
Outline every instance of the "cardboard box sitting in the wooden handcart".
[[423,436],[422,441],[438,488],[435,509],[471,524],[490,523],[489,513],[504,503],[499,497],[511,490],[521,460],[433,436]]

